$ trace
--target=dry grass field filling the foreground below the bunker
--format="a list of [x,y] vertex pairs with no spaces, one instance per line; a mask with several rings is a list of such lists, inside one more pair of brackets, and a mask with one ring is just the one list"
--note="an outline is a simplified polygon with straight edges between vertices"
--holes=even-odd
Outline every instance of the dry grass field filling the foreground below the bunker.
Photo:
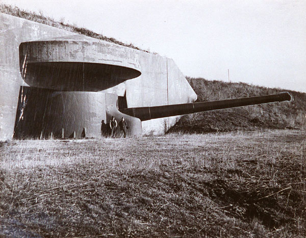
[[305,131],[0,146],[0,236],[306,232]]

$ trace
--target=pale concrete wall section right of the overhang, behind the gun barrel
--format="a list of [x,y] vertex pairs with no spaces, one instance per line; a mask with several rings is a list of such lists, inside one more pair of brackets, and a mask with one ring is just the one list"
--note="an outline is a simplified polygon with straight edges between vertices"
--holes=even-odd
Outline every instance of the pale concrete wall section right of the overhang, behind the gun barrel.
[[[172,59],[140,50],[137,52],[141,75],[107,92],[123,96],[126,90],[128,108],[188,103],[197,99],[196,93]],[[164,134],[180,117],[143,121],[142,134]]]

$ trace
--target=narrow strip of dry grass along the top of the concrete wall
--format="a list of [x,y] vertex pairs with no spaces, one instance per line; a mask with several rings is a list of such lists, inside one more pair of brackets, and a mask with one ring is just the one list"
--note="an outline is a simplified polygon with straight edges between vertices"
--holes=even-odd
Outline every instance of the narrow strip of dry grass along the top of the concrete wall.
[[[28,12],[28,11],[24,11],[22,9],[19,9],[18,7],[13,7],[11,5],[1,4],[1,3],[0,3],[0,12],[6,13],[6,14],[9,14],[9,15],[12,15],[12,16],[17,16],[17,17],[27,19],[27,20],[30,20],[30,21],[35,21],[35,22],[38,22],[38,23],[50,25],[51,27],[63,29],[63,30],[66,30],[66,31],[79,33],[79,34],[89,36],[89,37],[92,37],[92,38],[96,38],[96,39],[99,39],[99,40],[105,40],[105,41],[109,41],[109,42],[112,42],[112,43],[115,43],[115,44],[118,44],[118,45],[123,45],[123,46],[126,46],[126,47],[142,50],[142,49],[134,46],[132,43],[131,44],[124,44],[124,43],[122,43],[122,42],[120,42],[120,41],[118,41],[118,40],[116,40],[112,37],[109,38],[109,37],[103,36],[101,34],[97,34],[97,33],[93,32],[93,31],[90,31],[86,28],[77,27],[77,25],[74,25],[74,24],[71,25],[71,24],[64,23],[64,18],[60,21],[56,21],[52,17],[43,16],[41,13],[38,14],[36,12]],[[147,50],[143,50],[143,51],[148,52]]]

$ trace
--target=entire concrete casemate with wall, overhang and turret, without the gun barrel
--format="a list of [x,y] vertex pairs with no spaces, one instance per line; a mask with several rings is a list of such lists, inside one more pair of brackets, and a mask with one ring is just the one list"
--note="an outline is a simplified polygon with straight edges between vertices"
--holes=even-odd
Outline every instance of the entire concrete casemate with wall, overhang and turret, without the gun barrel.
[[163,134],[177,116],[141,122],[118,108],[197,98],[166,57],[3,13],[0,22],[0,139],[63,130],[80,137],[84,128],[86,137],[100,137],[101,120],[111,116],[133,124],[130,135]]

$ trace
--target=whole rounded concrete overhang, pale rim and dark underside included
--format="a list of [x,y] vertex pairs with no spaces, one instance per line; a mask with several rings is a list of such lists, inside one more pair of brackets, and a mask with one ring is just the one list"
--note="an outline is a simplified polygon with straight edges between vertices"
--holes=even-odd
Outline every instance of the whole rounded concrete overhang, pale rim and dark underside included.
[[22,42],[20,72],[32,87],[101,91],[141,75],[135,51],[81,35]]

